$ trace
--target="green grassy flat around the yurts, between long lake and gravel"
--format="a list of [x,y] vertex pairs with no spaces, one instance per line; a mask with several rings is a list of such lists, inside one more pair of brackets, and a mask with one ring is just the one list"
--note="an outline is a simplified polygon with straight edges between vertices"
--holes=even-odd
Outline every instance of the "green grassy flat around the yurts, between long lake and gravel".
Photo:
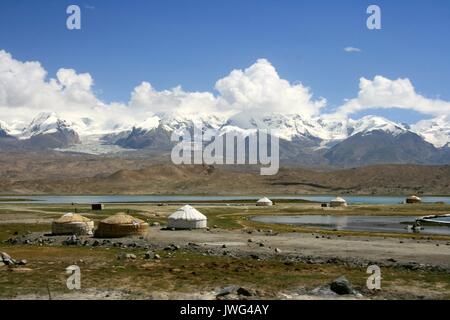
[[[55,218],[65,212],[78,212],[98,222],[117,212],[126,212],[136,218],[140,218],[149,223],[158,222],[165,225],[167,216],[174,212],[180,205],[168,204],[158,206],[155,204],[108,204],[102,211],[92,211],[87,205],[43,205],[43,204],[0,204],[0,237],[2,234],[8,234],[5,230],[11,229],[11,226],[1,224],[8,219],[24,221],[24,226],[18,226],[17,229],[26,229],[22,231],[33,231],[31,225],[33,218],[43,219],[41,224],[50,224]],[[194,204],[195,206],[195,204]],[[281,224],[266,224],[251,220],[252,216],[262,215],[380,215],[380,216],[426,216],[430,214],[445,214],[450,212],[450,205],[447,204],[415,204],[415,205],[352,205],[346,208],[321,208],[319,204],[314,203],[279,203],[273,207],[256,207],[254,205],[208,205],[197,204],[196,207],[208,217],[208,225],[222,229],[271,229],[276,232],[319,232],[323,234],[342,234],[342,235],[364,235],[364,236],[395,236],[411,237],[406,233],[368,233],[358,231],[332,231],[317,227],[289,226]],[[43,226],[35,226],[40,230]],[[3,236],[4,237],[4,236]],[[448,236],[429,236],[415,234],[414,237],[432,237],[433,239],[448,240]]]

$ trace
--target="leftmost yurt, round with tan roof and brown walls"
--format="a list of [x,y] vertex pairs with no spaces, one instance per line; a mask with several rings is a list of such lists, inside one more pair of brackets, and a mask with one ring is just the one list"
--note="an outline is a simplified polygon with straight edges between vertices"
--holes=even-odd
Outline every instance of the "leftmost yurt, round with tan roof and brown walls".
[[54,235],[92,235],[94,221],[76,213],[66,213],[53,221],[52,234]]

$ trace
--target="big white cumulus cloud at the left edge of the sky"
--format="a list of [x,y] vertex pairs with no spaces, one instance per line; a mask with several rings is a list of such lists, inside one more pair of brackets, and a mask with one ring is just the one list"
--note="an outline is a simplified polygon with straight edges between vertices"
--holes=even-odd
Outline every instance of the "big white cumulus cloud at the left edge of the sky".
[[56,112],[79,128],[85,119],[95,119],[100,131],[120,119],[134,121],[124,105],[99,100],[93,85],[88,73],[61,68],[55,78],[48,78],[39,62],[21,62],[0,50],[0,119],[13,130],[25,127],[40,112]]

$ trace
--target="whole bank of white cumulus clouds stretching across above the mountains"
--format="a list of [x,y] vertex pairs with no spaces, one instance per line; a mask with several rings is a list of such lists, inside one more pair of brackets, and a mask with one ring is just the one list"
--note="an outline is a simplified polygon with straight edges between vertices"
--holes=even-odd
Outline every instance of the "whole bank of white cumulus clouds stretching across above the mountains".
[[[54,78],[39,62],[21,62],[0,50],[0,120],[22,128],[40,112],[56,112],[76,122],[80,130],[92,119],[92,131],[128,129],[155,113],[230,115],[242,111],[321,115],[323,98],[314,99],[302,84],[282,79],[272,64],[260,59],[247,69],[233,70],[215,84],[212,92],[189,92],[181,87],[156,90],[142,82],[131,92],[128,103],[104,103],[93,91],[89,73],[61,68]],[[338,108],[333,117],[369,108],[405,108],[427,115],[449,115],[450,103],[418,94],[409,79],[361,78],[354,99]],[[323,115],[322,115],[323,116]],[[92,126],[92,125],[90,125]]]

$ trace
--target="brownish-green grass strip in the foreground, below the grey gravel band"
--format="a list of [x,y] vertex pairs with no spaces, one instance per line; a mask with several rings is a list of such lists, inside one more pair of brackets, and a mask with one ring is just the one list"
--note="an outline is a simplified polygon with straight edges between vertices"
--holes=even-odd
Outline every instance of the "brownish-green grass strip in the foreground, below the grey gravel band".
[[[142,258],[143,250],[134,250],[138,258],[123,261],[117,259],[120,249],[116,248],[14,246],[0,249],[16,259],[29,261],[22,270],[0,269],[0,298],[26,294],[47,297],[47,287],[53,294],[68,293],[65,268],[73,264],[80,266],[82,290],[132,292],[131,298],[150,296],[155,291],[211,291],[231,284],[259,290],[266,298],[276,298],[276,292],[308,292],[343,274],[356,289],[363,290],[367,279],[365,270],[340,265],[232,259],[186,251],[171,256],[161,251],[160,261],[148,261]],[[372,298],[408,298],[412,297],[408,293],[411,286],[437,299],[450,298],[450,274],[389,268],[383,269],[382,292],[366,294]]]

